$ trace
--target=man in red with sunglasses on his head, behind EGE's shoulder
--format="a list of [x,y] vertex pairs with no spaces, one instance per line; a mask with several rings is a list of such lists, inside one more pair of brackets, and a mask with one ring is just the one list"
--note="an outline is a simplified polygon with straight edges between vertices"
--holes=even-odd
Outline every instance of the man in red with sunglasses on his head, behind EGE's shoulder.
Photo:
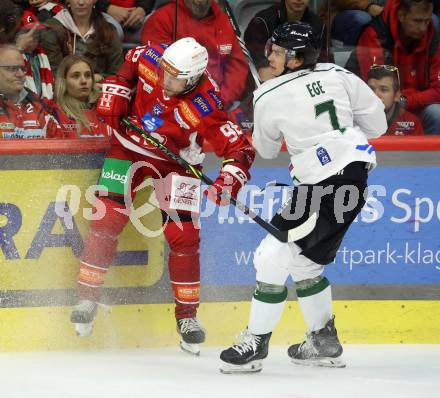
[[393,65],[372,65],[368,85],[385,106],[386,135],[423,135],[420,119],[400,105],[399,69]]

